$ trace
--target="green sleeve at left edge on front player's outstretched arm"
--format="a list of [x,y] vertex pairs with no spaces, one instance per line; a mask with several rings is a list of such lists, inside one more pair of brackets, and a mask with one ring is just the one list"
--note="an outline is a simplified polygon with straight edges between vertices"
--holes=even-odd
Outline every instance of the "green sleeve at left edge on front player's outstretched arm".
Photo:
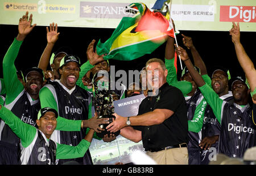
[[23,147],[28,147],[36,134],[36,128],[22,122],[9,109],[2,106],[0,118],[11,128],[11,130],[20,138]]

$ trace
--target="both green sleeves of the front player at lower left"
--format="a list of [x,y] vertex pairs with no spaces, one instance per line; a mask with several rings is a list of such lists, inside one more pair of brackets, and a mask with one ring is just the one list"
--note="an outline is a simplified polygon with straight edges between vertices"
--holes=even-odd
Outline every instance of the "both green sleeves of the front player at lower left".
[[[0,118],[5,121],[13,132],[20,138],[21,148],[30,147],[35,138],[36,128],[22,122],[9,109],[2,106],[0,110]],[[90,142],[82,139],[77,146],[70,146],[56,143],[56,159],[78,158],[84,156],[88,150]]]

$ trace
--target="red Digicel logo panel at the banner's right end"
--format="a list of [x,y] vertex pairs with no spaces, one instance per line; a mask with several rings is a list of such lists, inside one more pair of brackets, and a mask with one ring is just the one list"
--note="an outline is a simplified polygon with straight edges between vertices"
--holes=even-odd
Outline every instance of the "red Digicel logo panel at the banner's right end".
[[220,22],[255,23],[254,6],[220,6]]

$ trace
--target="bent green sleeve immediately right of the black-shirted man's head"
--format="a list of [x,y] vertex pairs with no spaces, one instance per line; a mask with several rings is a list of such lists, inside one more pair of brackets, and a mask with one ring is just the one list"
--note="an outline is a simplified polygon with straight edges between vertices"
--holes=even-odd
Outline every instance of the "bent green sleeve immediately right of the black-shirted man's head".
[[183,96],[186,96],[189,92],[192,91],[192,84],[189,81],[177,81],[177,72],[174,66],[174,59],[165,59],[166,69],[168,70],[167,74],[167,83],[172,85],[183,93]]

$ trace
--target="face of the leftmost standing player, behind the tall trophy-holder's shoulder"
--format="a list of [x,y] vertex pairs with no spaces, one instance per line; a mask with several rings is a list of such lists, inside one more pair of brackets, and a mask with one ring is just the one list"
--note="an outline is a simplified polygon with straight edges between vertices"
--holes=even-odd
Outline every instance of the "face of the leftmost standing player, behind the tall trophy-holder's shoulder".
[[39,95],[39,91],[44,84],[42,75],[37,71],[32,71],[27,75],[26,80],[26,91],[30,96]]

